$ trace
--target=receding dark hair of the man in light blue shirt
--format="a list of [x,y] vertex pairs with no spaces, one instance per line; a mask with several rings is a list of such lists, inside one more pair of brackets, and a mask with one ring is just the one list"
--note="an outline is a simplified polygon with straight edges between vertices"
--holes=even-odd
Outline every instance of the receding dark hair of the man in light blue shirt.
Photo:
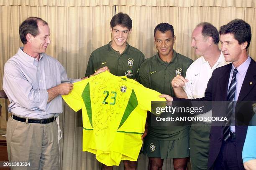
[[26,38],[27,34],[31,34],[34,37],[39,34],[37,24],[40,21],[43,25],[48,25],[46,21],[38,17],[29,17],[20,24],[20,40],[23,44],[26,44],[28,42]]

